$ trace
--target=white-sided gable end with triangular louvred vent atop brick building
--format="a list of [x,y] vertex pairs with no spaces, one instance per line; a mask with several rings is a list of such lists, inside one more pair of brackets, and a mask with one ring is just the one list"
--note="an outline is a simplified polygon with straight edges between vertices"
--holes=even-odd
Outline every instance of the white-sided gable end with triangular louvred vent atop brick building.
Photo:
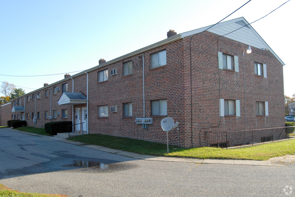
[[[247,24],[249,23],[246,21],[246,19],[244,17],[240,17],[237,19],[232,19],[229,21],[218,23],[214,25],[213,27],[210,27],[212,25],[209,25],[207,27],[202,27],[196,30],[184,32],[181,34],[181,37],[184,38],[189,35],[200,33],[210,27],[207,30],[209,32],[212,32],[221,36],[224,35],[224,37],[226,38],[230,38],[232,40],[236,40],[246,45],[260,48],[262,50],[268,49],[278,59],[278,61],[281,62],[282,65],[285,65],[283,61],[276,55],[276,53],[270,48],[270,46],[268,46],[268,44],[266,44],[266,42],[261,38],[261,36],[253,29],[253,27]],[[247,25],[247,26],[243,27],[244,25]],[[228,35],[225,35],[225,34],[228,34]]]

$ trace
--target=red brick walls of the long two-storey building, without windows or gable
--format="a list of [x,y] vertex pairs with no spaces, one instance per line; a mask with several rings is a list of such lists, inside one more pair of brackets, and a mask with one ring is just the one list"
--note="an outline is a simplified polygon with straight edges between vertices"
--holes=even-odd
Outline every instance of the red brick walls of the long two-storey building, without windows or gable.
[[[283,127],[283,66],[271,52],[255,47],[252,47],[251,54],[245,54],[243,61],[242,54],[248,45],[224,37],[219,38],[217,43],[217,38],[218,35],[210,32],[203,32],[193,37],[192,69],[189,36],[113,64],[107,65],[106,63],[106,66],[101,64],[104,67],[90,71],[89,133],[165,143],[166,133],[160,126],[160,120],[165,116],[151,115],[151,101],[161,99],[167,99],[168,116],[179,122],[179,136],[176,129],[169,131],[169,143],[173,145],[177,145],[179,139],[179,145],[183,147],[207,146],[208,135],[205,133],[207,131],[223,132]],[[150,55],[163,50],[166,50],[167,64],[150,69]],[[219,69],[218,51],[230,56],[238,56],[239,72]],[[141,55],[144,55],[145,65],[145,117],[153,118],[153,124],[149,125],[148,129],[142,129],[142,125],[135,124],[135,118],[143,117],[143,58],[140,58]],[[123,76],[123,64],[128,61],[133,62],[132,74]],[[254,62],[267,65],[267,78],[254,74]],[[110,70],[115,68],[117,75],[111,76]],[[109,71],[108,80],[98,82],[98,72],[105,69]],[[72,92],[72,79],[66,82],[68,82],[68,92]],[[48,111],[50,115],[50,89],[52,89],[51,115],[53,115],[53,110],[60,111],[60,116],[53,121],[63,120],[61,118],[63,109],[68,109],[67,120],[72,120],[72,106],[56,103],[62,95],[62,84],[64,83],[46,86],[48,97],[45,97],[46,89],[40,90],[42,99],[36,100],[36,112],[42,112],[42,118],[37,120],[35,126],[41,127],[44,123],[49,122],[48,119],[44,119],[44,111]],[[74,78],[74,92],[81,92],[87,96],[86,86],[86,74]],[[53,87],[60,87],[60,92],[53,95]],[[219,98],[240,100],[241,116],[220,117]],[[256,102],[265,101],[268,101],[269,115],[256,115]],[[127,102],[132,102],[132,117],[123,116],[123,104]],[[101,105],[108,105],[108,117],[99,117],[98,106]],[[76,115],[76,108],[86,106],[86,104],[74,106],[74,115]],[[111,106],[117,106],[116,113],[110,112]],[[35,101],[26,102],[25,99],[25,109],[26,113],[35,112]],[[80,116],[82,118],[82,112]],[[28,126],[34,126],[32,118],[25,118],[25,120]]]

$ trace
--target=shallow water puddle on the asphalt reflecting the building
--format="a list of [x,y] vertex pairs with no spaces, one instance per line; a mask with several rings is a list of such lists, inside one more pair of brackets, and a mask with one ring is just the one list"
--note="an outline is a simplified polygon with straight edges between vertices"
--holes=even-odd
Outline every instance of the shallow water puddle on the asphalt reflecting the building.
[[73,164],[63,165],[62,167],[78,167],[82,168],[81,171],[117,171],[117,170],[128,170],[137,167],[135,164],[126,162],[117,163],[102,163],[96,161],[73,161]]

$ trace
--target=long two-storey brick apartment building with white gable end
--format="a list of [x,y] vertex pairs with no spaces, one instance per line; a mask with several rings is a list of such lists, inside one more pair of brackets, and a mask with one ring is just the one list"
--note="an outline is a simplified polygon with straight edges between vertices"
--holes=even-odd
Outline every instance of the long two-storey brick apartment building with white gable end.
[[[160,121],[169,116],[179,122],[169,143],[182,147],[208,146],[209,131],[283,127],[284,64],[246,24],[241,17],[181,34],[170,30],[165,40],[12,100],[10,117],[19,114],[34,126],[36,116],[35,126],[43,127],[53,116],[83,122],[87,133],[165,143]],[[143,117],[153,123],[135,122]]]

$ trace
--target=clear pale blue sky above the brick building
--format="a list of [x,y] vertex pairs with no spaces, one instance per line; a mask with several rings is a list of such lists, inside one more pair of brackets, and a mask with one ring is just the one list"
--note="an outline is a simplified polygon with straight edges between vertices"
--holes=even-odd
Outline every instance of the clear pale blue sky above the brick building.
[[[253,22],[287,0],[252,0],[226,20]],[[213,25],[247,1],[0,1],[0,74],[45,75],[81,71],[177,33]],[[294,0],[252,27],[286,64],[284,92],[294,87]],[[292,15],[291,15],[292,14]],[[292,30],[291,30],[292,28]],[[70,73],[71,75],[76,73]],[[39,77],[1,76],[25,92],[54,83],[64,74]],[[18,88],[18,87],[17,87]],[[33,89],[28,89],[33,88]]]

